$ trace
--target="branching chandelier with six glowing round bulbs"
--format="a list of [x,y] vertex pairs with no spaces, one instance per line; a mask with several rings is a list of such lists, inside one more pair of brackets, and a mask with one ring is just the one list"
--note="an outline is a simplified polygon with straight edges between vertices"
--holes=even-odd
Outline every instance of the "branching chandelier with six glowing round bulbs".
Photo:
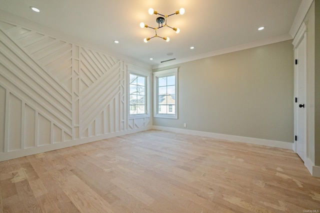
[[169,16],[171,16],[171,15],[177,15],[177,14],[183,15],[183,14],[184,14],[184,9],[183,9],[183,8],[180,8],[179,10],[175,11],[174,13],[172,13],[172,14],[170,14],[170,15],[162,15],[162,14],[158,13],[157,11],[155,11],[155,10],[152,9],[152,8],[149,8],[148,12],[149,12],[150,15],[152,15],[152,14],[158,14],[158,15],[161,15],[161,16],[159,16],[159,17],[157,17],[157,18],[155,19],[155,21],[158,23],[158,27],[150,27],[150,26],[148,26],[147,24],[144,24],[143,22],[140,23],[140,27],[141,27],[141,28],[144,28],[144,27],[146,27],[146,28],[151,28],[151,29],[154,29],[154,31],[155,31],[155,35],[152,36],[152,37],[146,37],[146,38],[144,38],[144,39],[143,39],[144,42],[148,42],[148,40],[150,40],[150,39],[153,38],[153,37],[159,37],[159,38],[164,39],[166,42],[168,42],[168,41],[170,40],[169,37],[161,37],[161,36],[157,35],[157,33],[156,33],[156,30],[157,30],[157,29],[162,28],[162,27],[164,27],[164,26],[167,26],[167,27],[173,29],[176,33],[179,33],[179,32],[180,32],[180,29],[179,29],[179,28],[175,28],[175,27],[171,27],[171,26],[167,25],[166,19],[167,19],[167,17],[169,17]]

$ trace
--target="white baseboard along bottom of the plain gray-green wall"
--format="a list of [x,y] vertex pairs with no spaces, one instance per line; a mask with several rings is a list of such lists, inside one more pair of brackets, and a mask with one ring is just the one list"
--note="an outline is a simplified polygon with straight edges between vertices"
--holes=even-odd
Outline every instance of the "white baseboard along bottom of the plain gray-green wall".
[[211,137],[216,139],[231,140],[236,142],[246,142],[251,144],[285,148],[290,150],[292,149],[292,144],[293,144],[292,142],[283,142],[283,141],[260,139],[260,138],[253,138],[253,137],[243,137],[243,136],[236,136],[236,135],[229,135],[229,134],[220,134],[220,133],[213,133],[213,132],[206,132],[206,131],[196,131],[196,130],[189,130],[189,129],[182,129],[182,128],[156,126],[156,125],[153,125],[152,129],[192,134],[192,135]]

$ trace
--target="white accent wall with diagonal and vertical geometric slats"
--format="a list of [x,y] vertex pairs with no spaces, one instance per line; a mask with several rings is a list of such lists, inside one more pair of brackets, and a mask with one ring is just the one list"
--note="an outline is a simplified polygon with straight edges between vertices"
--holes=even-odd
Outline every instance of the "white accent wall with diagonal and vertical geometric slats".
[[128,117],[127,64],[0,20],[0,161],[148,127]]

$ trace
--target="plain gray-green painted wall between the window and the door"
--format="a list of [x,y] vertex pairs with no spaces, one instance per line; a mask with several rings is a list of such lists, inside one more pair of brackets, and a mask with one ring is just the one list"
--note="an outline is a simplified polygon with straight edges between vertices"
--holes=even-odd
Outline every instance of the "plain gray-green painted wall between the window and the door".
[[153,125],[293,142],[291,40],[178,67],[178,119]]

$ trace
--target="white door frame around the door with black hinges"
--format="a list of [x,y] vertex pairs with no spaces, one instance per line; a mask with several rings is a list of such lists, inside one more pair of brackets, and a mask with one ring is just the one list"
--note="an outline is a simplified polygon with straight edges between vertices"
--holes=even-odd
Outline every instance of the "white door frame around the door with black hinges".
[[[303,39],[304,38],[304,39]],[[299,30],[297,31],[296,35],[294,36],[294,39],[292,41],[293,44],[293,51],[294,51],[294,60],[296,59],[296,47],[300,44],[300,42],[304,40],[305,44],[305,48],[303,49],[303,55],[304,55],[304,69],[305,69],[305,110],[304,110],[304,159],[302,159],[304,161],[304,163],[306,162],[306,159],[308,158],[308,89],[307,89],[307,81],[308,81],[308,72],[307,72],[307,21],[303,22],[301,24],[301,26],[299,27]],[[296,70],[296,65],[294,65],[294,135],[293,135],[293,151],[296,153],[296,141],[295,141],[295,135],[296,135],[296,102],[295,102],[295,97],[297,96],[297,88],[296,88],[296,80],[297,80],[297,70]]]

